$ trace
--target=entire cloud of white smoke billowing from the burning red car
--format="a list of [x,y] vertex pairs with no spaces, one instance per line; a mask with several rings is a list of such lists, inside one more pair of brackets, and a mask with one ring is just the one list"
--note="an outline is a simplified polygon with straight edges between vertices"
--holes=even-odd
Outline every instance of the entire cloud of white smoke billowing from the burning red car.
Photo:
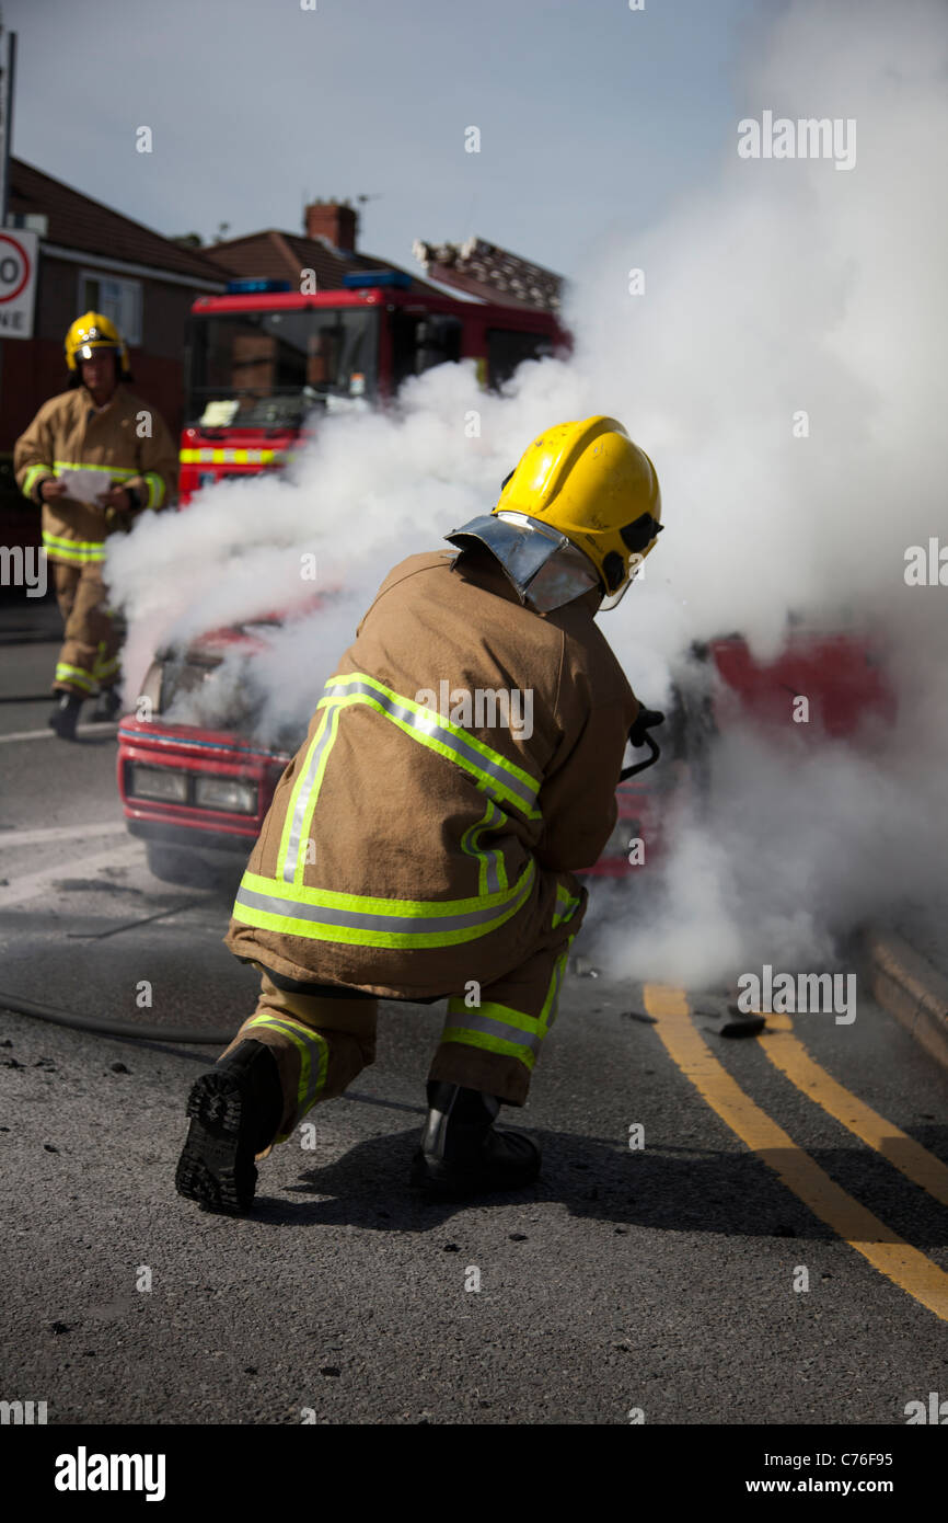
[[[648,870],[647,920],[641,896],[633,915],[622,891],[596,892],[600,952],[624,975],[691,984],[752,958],[819,966],[860,918],[937,892],[948,592],[908,588],[902,573],[908,545],[948,541],[946,61],[942,5],[782,9],[749,41],[715,181],[660,225],[630,218],[596,242],[566,314],[568,362],[523,366],[502,399],[478,390],[469,362],[429,372],[397,413],[327,419],[291,477],[224,481],[111,553],[131,627],[126,696],[161,641],[298,608],[315,551],[324,606],[254,664],[262,734],[304,728],[388,568],[488,509],[551,422],[607,413],[662,480],[666,530],[603,621],[642,701],[668,701],[695,638],[740,629],[775,655],[793,612],[872,631],[899,720],[867,754],[840,742],[800,752],[790,711],[785,734],[729,733],[709,812]],[[854,119],[855,166],[740,158],[738,119],[764,110]],[[607,218],[615,228],[615,207]],[[630,270],[644,271],[642,294]],[[233,691],[248,679],[240,658],[227,679]]]

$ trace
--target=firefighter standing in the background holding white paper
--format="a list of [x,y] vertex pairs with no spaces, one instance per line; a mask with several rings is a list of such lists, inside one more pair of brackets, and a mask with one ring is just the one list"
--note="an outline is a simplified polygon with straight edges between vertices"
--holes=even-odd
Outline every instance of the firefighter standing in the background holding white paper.
[[73,740],[82,702],[96,688],[102,696],[93,719],[114,719],[120,704],[120,637],[102,580],[105,538],[167,503],[177,452],[154,408],[128,390],[128,350],[108,317],[76,318],[65,364],[70,390],[44,402],[20,436],[14,469],[20,490],[43,506],[43,545],[65,621],[53,681],[61,696],[49,722]]

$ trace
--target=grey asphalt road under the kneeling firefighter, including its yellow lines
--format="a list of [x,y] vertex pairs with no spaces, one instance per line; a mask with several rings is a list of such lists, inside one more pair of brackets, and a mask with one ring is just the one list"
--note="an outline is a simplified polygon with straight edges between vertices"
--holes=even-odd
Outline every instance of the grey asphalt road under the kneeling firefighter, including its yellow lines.
[[863,999],[727,1040],[685,990],[574,973],[504,1113],[542,1179],[475,1206],[406,1186],[440,1010],[383,1005],[374,1068],[260,1165],[254,1215],[180,1199],[216,1048],[3,995],[230,1031],[256,976],[228,894],[158,883],[125,836],[114,726],[44,733],[55,618],[24,624],[0,626],[0,1398],[59,1424],[840,1426],[948,1397],[948,1081]]

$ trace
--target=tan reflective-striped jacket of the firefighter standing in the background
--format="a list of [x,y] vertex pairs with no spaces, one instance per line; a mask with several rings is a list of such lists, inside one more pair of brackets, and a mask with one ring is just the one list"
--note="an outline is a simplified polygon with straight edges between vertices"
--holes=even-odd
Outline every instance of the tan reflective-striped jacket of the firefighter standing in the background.
[[[151,437],[138,437],[140,426],[151,428]],[[103,492],[134,487],[142,510],[160,509],[177,487],[178,452],[158,413],[128,387],[117,385],[107,407],[96,411],[81,385],[43,404],[14,446],[14,471],[20,490],[38,503],[46,477],[88,469],[102,475]],[[43,544],[50,560],[100,562],[108,533],[105,509],[97,504],[68,496],[43,504]]]

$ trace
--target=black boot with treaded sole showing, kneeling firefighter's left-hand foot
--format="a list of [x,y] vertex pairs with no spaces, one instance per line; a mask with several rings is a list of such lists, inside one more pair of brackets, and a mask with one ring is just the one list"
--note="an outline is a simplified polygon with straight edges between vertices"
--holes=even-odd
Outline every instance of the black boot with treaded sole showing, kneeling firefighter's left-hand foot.
[[247,1040],[210,1072],[187,1101],[192,1118],[175,1188],[207,1211],[239,1217],[257,1185],[254,1157],[269,1147],[283,1115],[277,1060],[263,1042]]

